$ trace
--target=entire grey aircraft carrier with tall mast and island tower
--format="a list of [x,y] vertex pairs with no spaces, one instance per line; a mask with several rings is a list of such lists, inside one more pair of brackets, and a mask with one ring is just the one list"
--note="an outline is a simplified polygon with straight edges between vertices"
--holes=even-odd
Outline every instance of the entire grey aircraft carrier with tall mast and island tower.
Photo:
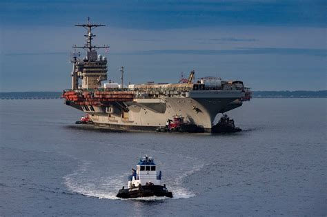
[[[197,132],[211,132],[215,117],[250,99],[250,92],[241,81],[222,81],[204,77],[195,81],[195,71],[181,83],[145,83],[128,86],[106,81],[106,57],[97,54],[108,45],[92,45],[92,29],[103,26],[79,24],[88,31],[86,44],[74,45],[87,54],[83,59],[72,57],[72,87],[63,91],[66,105],[86,112],[92,123],[113,130],[154,131],[163,127],[172,116],[182,116],[186,123],[197,126]],[[123,68],[122,68],[123,70]]]

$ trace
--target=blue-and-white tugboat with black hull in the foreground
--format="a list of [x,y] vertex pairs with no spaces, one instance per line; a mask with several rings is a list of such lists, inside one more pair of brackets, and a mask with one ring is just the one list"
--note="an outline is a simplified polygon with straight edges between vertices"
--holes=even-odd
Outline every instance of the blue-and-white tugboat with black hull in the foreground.
[[128,176],[128,188],[119,190],[119,198],[139,198],[148,196],[166,196],[172,198],[172,192],[168,192],[166,185],[161,185],[161,171],[157,173],[157,167],[153,158],[145,156],[139,159],[137,169],[132,169],[132,175]]

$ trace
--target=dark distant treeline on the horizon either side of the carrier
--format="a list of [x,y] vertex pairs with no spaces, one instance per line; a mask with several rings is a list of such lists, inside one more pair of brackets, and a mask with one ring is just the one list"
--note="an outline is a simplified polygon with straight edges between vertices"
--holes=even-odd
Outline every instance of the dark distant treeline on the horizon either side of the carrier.
[[[62,92],[0,92],[0,99],[60,99]],[[319,91],[253,91],[253,98],[327,98],[327,90]]]

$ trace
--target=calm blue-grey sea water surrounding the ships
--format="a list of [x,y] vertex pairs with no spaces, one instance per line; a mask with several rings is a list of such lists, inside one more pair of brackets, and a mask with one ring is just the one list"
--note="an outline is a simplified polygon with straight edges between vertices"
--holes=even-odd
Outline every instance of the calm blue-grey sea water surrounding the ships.
[[[237,134],[74,125],[60,100],[1,100],[0,216],[326,216],[327,99],[252,99]],[[121,200],[138,158],[174,198]]]

